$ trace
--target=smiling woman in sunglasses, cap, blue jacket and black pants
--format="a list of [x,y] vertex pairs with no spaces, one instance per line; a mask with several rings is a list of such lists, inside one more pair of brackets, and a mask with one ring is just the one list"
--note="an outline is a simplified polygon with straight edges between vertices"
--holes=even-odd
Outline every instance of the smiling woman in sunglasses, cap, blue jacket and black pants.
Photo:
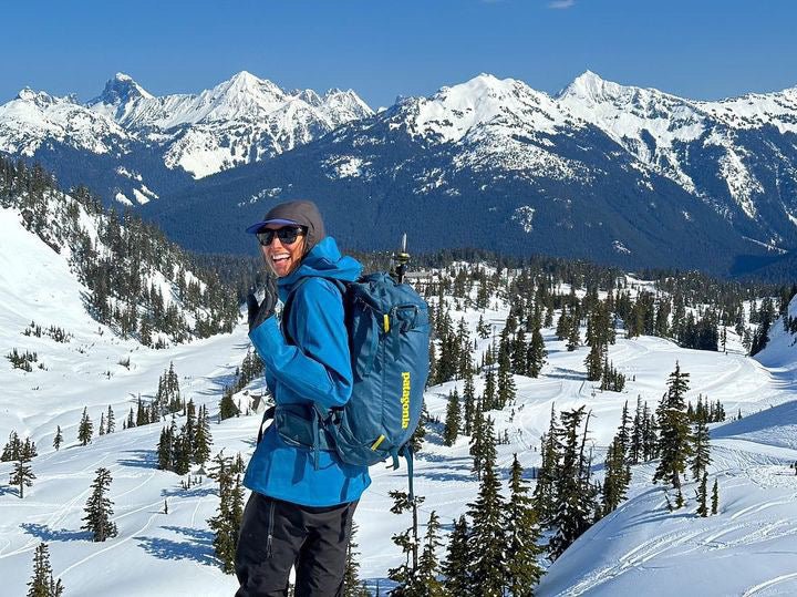
[[[277,409],[345,404],[351,356],[342,295],[333,280],[353,281],[362,266],[341,256],[311,202],[277,205],[247,231],[257,235],[278,278],[278,289],[267,287],[260,305],[248,298],[249,338],[266,366]],[[275,307],[289,296],[280,327]],[[244,478],[252,494],[236,553],[236,595],[287,595],[292,566],[297,597],[342,595],[352,516],[370,483],[366,467],[343,464],[330,451],[313,454],[289,445],[270,425]]]

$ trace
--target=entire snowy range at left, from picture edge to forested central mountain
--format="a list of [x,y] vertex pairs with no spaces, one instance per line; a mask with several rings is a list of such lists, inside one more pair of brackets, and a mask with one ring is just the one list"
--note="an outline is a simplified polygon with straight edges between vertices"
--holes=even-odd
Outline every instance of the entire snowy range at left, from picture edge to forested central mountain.
[[351,90],[286,92],[248,72],[198,94],[161,97],[117,73],[85,104],[22,90],[0,106],[0,152],[41,161],[106,199],[143,204],[370,114]]

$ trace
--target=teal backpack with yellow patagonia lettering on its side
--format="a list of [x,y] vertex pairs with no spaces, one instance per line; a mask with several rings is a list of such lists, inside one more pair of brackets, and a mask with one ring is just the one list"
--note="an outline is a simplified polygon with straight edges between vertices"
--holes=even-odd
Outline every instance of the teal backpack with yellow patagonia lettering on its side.
[[[343,295],[354,373],[351,398],[341,409],[315,402],[281,404],[263,419],[273,418],[284,442],[312,450],[317,466],[320,450],[334,451],[342,462],[360,466],[392,459],[396,469],[403,455],[412,495],[410,439],[421,419],[428,375],[428,306],[411,286],[385,272],[354,282],[330,281]],[[301,284],[286,301],[283,322]],[[286,338],[290,340],[287,333]]]

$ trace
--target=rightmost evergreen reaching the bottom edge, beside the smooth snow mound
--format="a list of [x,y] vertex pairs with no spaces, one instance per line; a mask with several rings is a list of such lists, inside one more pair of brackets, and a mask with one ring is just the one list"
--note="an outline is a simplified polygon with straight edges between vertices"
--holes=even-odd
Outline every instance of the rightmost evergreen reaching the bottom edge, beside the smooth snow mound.
[[534,586],[542,576],[537,557],[542,552],[537,545],[540,528],[537,514],[528,495],[527,482],[517,459],[509,473],[509,501],[506,505],[506,589],[513,597],[534,594]]

